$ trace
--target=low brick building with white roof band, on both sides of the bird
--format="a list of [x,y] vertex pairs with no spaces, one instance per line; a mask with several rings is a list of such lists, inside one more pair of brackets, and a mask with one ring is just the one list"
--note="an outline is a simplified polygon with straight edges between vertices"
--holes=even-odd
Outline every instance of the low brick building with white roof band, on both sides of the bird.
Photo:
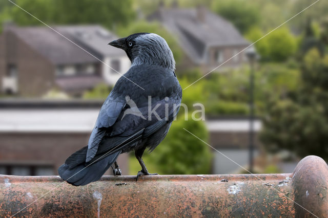
[[[57,175],[57,168],[73,152],[86,146],[102,101],[10,100],[0,101],[0,174]],[[248,167],[247,117],[208,118],[209,143],[239,165]],[[255,158],[261,154],[255,121]],[[241,168],[213,152],[213,174],[240,172]],[[128,154],[118,164],[126,175]],[[112,173],[109,169],[107,174]]]

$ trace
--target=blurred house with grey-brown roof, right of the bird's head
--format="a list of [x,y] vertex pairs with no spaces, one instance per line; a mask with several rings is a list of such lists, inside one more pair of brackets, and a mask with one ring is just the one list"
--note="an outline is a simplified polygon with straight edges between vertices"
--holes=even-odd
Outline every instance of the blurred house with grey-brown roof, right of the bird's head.
[[[232,23],[203,6],[186,9],[161,5],[148,19],[159,21],[176,36],[185,53],[178,70],[199,67],[207,73],[250,45]],[[246,60],[241,53],[222,67],[238,67]]]

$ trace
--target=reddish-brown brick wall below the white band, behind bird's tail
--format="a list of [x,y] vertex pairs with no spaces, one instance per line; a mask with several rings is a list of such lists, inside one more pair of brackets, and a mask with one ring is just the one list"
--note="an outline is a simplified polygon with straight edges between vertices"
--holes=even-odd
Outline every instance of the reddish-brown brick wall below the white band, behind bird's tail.
[[[73,152],[86,146],[89,133],[0,133],[0,161],[2,163],[48,163],[57,168]],[[128,154],[120,155],[118,164],[128,174]],[[107,175],[112,169],[107,171]]]

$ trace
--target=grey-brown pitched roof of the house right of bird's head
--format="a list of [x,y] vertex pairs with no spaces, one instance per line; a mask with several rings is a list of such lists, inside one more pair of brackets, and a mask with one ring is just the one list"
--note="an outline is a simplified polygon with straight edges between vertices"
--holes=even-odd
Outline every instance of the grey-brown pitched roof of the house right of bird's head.
[[[203,18],[198,17],[203,10]],[[149,16],[158,20],[177,36],[185,53],[196,63],[206,60],[206,50],[211,46],[248,46],[238,30],[226,19],[205,8],[159,8]]]

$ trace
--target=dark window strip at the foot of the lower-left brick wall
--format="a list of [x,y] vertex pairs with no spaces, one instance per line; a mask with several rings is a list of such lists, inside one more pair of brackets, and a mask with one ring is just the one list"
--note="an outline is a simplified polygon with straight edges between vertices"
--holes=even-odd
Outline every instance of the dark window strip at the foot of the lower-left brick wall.
[[15,176],[51,176],[54,175],[51,165],[1,164],[0,174]]

